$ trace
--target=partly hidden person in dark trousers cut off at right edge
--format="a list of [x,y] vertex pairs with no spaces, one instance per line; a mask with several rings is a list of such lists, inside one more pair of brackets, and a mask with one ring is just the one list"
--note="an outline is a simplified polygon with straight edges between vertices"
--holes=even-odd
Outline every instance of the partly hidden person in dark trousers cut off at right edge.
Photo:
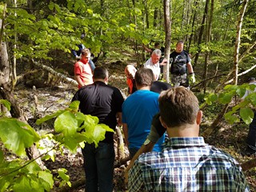
[[[248,79],[249,85],[255,85],[256,86],[256,79],[255,78],[249,78]],[[242,101],[246,99],[246,97],[251,94],[253,91],[246,90],[246,93],[242,97]],[[254,92],[256,92],[256,87],[254,89]],[[246,151],[244,154],[247,156],[254,155],[256,157],[256,110],[254,110],[254,118],[253,121],[250,123],[249,126],[249,132],[247,134],[246,138]]]

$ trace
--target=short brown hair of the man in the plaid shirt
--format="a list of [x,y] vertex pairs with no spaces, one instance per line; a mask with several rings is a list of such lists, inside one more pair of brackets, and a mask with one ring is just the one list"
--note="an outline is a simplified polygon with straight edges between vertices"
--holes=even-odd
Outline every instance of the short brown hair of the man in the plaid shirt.
[[191,90],[179,86],[162,91],[159,96],[162,121],[168,127],[194,124],[199,106],[198,98]]

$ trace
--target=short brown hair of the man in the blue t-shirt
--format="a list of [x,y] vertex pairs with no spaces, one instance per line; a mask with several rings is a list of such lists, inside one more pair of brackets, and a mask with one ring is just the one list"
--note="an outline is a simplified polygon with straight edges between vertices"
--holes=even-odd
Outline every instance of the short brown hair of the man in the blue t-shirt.
[[151,86],[154,82],[153,71],[149,68],[141,68],[136,71],[135,82],[138,86]]

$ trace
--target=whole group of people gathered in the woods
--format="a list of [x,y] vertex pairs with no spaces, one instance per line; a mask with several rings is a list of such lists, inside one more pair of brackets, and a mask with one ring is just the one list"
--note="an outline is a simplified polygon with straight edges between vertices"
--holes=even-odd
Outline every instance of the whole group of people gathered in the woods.
[[[158,81],[166,65],[159,49],[151,51],[144,67],[126,66],[126,100],[108,85],[108,70],[93,69],[90,50],[82,49],[74,65],[79,90],[72,101],[78,100],[79,110],[97,116],[99,123],[113,130],[122,126],[131,159],[125,173],[129,191],[250,191],[239,163],[199,136],[202,110],[190,90],[194,70],[183,45],[177,42],[170,54],[173,86]],[[86,144],[82,154],[86,192],[112,192],[113,133],[106,132],[97,148]]]

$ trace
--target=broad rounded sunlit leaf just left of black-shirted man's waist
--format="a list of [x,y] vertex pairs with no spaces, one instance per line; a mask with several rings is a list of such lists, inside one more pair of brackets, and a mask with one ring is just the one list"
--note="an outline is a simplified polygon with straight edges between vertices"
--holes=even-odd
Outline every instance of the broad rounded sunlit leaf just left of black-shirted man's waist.
[[78,120],[70,111],[65,111],[56,118],[54,128],[56,132],[65,136],[74,135],[78,130]]

